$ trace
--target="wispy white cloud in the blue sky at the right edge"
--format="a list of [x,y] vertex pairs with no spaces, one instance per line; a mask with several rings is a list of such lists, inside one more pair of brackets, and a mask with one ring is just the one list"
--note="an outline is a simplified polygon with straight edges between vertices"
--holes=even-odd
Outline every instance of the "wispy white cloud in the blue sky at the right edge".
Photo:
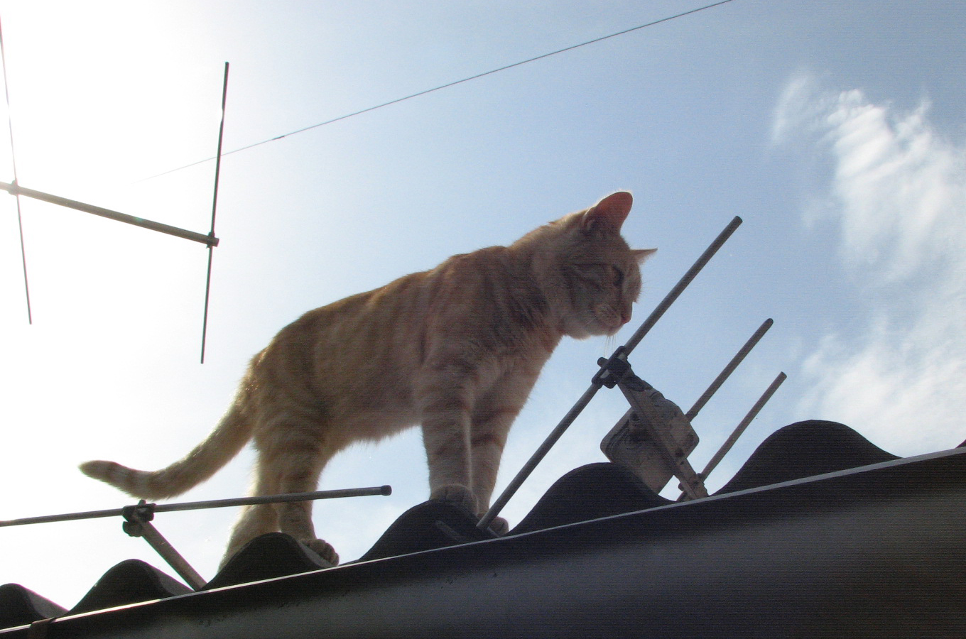
[[865,300],[865,329],[827,335],[805,361],[803,410],[863,431],[897,454],[966,436],[966,149],[862,91],[792,79],[773,140],[809,140],[828,185],[843,266]]

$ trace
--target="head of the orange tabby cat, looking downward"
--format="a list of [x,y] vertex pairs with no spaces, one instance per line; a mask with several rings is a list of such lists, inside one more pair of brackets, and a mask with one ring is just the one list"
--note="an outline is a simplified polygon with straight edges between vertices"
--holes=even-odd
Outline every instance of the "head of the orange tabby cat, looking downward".
[[534,276],[565,335],[612,335],[631,319],[640,269],[657,249],[635,250],[620,236],[633,198],[618,191],[521,239]]

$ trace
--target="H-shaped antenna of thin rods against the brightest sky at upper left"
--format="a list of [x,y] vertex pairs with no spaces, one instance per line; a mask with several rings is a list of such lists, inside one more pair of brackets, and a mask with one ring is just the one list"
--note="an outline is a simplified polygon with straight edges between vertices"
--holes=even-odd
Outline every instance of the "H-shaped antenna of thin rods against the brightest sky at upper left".
[[30,304],[30,284],[27,278],[27,252],[25,247],[25,242],[23,239],[23,215],[20,208],[20,198],[26,197],[34,200],[41,200],[42,202],[47,202],[49,204],[54,204],[60,207],[73,208],[74,210],[80,210],[85,213],[92,213],[94,215],[99,215],[100,217],[106,217],[118,222],[124,222],[126,224],[132,224],[134,226],[141,227],[142,229],[148,229],[149,231],[155,231],[156,233],[163,233],[169,236],[181,237],[183,239],[188,239],[191,241],[199,242],[208,247],[208,271],[205,279],[205,306],[204,306],[204,316],[202,319],[201,327],[201,363],[205,363],[205,346],[208,338],[208,307],[211,300],[212,291],[212,259],[214,247],[218,245],[219,238],[214,235],[214,218],[215,212],[218,205],[218,179],[221,173],[221,143],[224,137],[225,130],[225,102],[228,97],[228,63],[225,63],[225,73],[224,81],[222,83],[221,89],[221,121],[218,125],[218,146],[217,153],[215,153],[215,163],[214,163],[214,189],[212,198],[212,224],[209,232],[207,234],[197,233],[194,231],[188,231],[176,226],[171,226],[169,224],[163,224],[161,222],[156,222],[153,220],[147,220],[135,215],[129,215],[128,213],[123,213],[117,210],[111,210],[109,208],[96,207],[94,205],[85,204],[83,202],[77,202],[75,200],[70,200],[68,198],[61,197],[59,195],[52,195],[50,193],[44,193],[43,191],[34,190],[32,188],[26,188],[21,186],[17,180],[16,175],[16,154],[14,153],[14,122],[13,116],[10,110],[10,85],[7,79],[7,55],[4,49],[3,43],[3,28],[0,27],[0,66],[3,69],[4,77],[4,95],[7,99],[7,127],[10,135],[10,149],[11,149],[11,160],[13,165],[14,181],[5,182],[0,181],[0,190],[7,191],[16,198],[16,217],[17,225],[20,234],[20,262],[23,267],[23,289],[26,297],[27,305],[27,322],[30,324],[34,323],[33,312],[31,310]]

